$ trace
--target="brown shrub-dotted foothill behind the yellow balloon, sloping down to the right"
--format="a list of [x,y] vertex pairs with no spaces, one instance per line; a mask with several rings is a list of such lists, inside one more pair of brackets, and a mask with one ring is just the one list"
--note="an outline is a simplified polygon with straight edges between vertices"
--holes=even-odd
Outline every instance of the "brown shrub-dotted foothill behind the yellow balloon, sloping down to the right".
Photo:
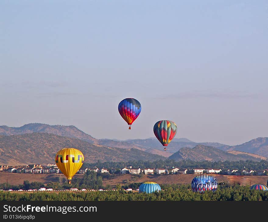
[[135,148],[107,147],[55,134],[31,133],[0,136],[0,165],[55,163],[55,154],[64,147],[74,147],[82,151],[85,163],[95,163],[98,160],[116,162],[165,159]]

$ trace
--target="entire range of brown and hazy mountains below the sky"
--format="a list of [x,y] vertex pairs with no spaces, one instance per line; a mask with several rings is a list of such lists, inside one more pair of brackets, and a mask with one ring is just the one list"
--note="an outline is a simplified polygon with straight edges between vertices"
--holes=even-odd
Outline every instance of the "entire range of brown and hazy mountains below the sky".
[[159,159],[193,161],[267,160],[268,137],[259,137],[236,146],[174,138],[163,150],[156,138],[117,140],[96,139],[75,126],[29,123],[22,127],[0,126],[0,165],[53,163],[64,147],[81,150],[85,162],[155,161]]

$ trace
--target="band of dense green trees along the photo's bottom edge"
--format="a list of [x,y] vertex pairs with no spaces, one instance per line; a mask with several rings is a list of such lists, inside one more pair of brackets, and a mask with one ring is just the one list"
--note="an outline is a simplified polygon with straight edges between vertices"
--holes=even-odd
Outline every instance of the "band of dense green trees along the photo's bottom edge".
[[268,192],[251,190],[249,186],[219,186],[216,191],[203,194],[193,192],[190,185],[165,185],[159,192],[126,192],[118,187],[115,191],[89,192],[4,192],[0,201],[267,201]]

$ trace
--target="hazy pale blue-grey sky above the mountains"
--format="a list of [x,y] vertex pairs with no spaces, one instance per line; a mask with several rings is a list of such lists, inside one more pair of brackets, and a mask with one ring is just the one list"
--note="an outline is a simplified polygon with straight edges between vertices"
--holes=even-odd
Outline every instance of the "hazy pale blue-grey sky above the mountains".
[[[236,145],[268,136],[267,1],[0,1],[0,125]],[[125,98],[141,103],[128,130]]]

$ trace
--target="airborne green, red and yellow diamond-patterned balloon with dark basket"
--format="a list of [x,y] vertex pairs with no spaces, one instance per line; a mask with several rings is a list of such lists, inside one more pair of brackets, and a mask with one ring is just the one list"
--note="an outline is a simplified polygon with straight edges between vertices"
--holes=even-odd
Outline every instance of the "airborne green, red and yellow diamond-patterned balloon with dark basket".
[[153,133],[160,143],[165,146],[164,150],[166,150],[166,146],[177,133],[177,125],[170,120],[160,120],[154,124]]

